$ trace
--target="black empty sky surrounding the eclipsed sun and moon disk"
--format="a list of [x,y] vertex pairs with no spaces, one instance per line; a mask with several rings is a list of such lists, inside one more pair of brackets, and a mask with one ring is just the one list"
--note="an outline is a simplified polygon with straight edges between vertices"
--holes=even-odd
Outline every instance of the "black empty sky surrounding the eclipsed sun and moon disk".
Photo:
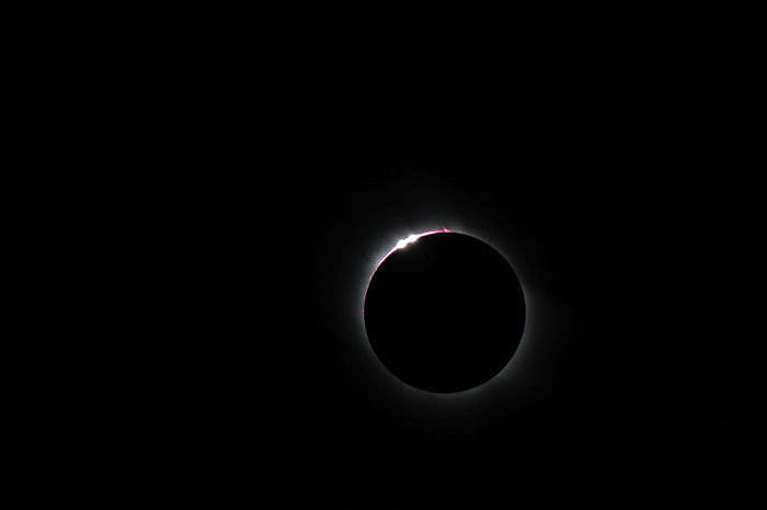
[[[43,32],[18,45],[31,498],[764,501],[760,30]],[[371,257],[423,226],[482,229],[535,296],[525,366],[474,399],[357,343]]]

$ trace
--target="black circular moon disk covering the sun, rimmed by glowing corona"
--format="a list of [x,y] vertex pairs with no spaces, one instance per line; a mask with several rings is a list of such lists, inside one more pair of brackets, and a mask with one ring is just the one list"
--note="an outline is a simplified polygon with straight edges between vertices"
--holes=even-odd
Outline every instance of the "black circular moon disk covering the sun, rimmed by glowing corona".
[[469,389],[514,355],[525,299],[514,270],[485,242],[455,233],[421,237],[378,267],[365,329],[378,359],[421,389]]

